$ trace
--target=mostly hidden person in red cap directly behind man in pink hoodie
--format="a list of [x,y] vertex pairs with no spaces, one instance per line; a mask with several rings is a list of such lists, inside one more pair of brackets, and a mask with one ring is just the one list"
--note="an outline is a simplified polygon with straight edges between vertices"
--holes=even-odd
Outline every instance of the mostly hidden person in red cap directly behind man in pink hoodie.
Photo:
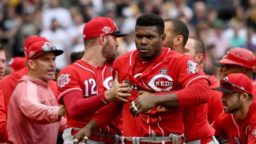
[[[33,36],[28,37],[25,41],[24,52],[26,53],[27,48],[29,46],[31,46],[33,43],[40,42],[40,41],[48,41],[48,40],[45,37],[38,36],[38,35],[33,35]],[[8,106],[9,106],[9,100],[12,95],[13,89],[14,89],[17,81],[21,77],[26,76],[26,75],[28,75],[28,67],[27,66],[23,67],[22,69],[20,69],[18,71],[12,71],[10,75],[7,75],[0,80],[0,86],[4,90],[3,96],[4,96],[4,108],[5,108],[6,117],[7,117],[7,111],[8,111]],[[56,82],[54,82],[53,80],[50,80],[49,87],[53,91],[55,97],[57,97]]]

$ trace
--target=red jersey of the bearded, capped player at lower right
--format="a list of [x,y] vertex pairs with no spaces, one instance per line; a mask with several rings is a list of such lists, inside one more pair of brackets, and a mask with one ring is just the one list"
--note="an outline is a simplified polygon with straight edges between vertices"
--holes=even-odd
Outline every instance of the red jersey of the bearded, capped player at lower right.
[[221,113],[212,126],[216,131],[217,138],[223,138],[232,144],[255,144],[256,143],[256,102],[253,101],[250,109],[241,121],[231,113]]

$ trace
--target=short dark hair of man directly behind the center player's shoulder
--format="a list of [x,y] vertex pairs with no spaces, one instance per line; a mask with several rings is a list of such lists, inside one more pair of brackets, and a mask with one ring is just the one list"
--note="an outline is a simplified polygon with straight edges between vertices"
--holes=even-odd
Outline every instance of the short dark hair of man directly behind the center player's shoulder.
[[164,19],[164,21],[172,23],[172,26],[169,27],[168,29],[171,32],[173,32],[176,36],[178,35],[183,36],[183,47],[185,47],[189,38],[189,29],[187,25],[183,21],[175,18],[166,18]]

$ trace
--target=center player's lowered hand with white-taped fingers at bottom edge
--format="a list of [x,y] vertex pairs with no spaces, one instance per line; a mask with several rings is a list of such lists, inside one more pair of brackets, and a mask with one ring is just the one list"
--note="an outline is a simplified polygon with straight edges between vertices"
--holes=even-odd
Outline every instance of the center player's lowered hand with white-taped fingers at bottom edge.
[[89,128],[84,127],[74,135],[73,144],[78,144],[81,141],[82,144],[86,144],[87,140],[91,137],[91,134],[91,130]]

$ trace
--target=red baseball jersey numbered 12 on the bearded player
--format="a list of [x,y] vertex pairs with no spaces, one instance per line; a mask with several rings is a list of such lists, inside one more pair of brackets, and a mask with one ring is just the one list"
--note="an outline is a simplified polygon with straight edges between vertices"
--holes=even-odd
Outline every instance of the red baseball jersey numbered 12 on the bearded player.
[[[113,62],[105,62],[103,66],[96,68],[83,60],[77,60],[75,63],[63,68],[57,80],[59,102],[66,106],[62,98],[65,94],[72,91],[81,91],[83,97],[80,99],[86,99],[110,89],[113,82],[112,68]],[[84,107],[86,107],[86,105],[84,105]],[[86,111],[90,110],[90,107],[87,106]],[[95,111],[90,115],[83,115],[83,113],[81,113],[80,115],[82,115],[82,117],[80,119],[71,117],[70,113],[71,111],[67,109],[67,127],[83,128],[89,123]],[[110,124],[103,126],[97,132],[111,133],[112,129],[116,130],[116,126]]]

